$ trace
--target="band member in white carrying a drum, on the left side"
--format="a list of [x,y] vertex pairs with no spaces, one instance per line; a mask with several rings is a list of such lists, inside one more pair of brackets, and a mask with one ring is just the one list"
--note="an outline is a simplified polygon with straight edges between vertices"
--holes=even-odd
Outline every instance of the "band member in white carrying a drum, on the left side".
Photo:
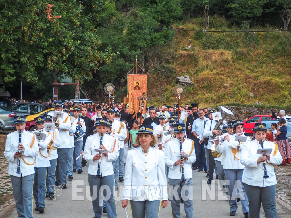
[[[100,107],[101,108],[101,107]],[[97,109],[98,111],[98,109]],[[76,131],[77,128],[82,128],[82,130],[84,131],[84,133],[86,133],[86,124],[84,119],[79,117],[80,115],[80,110],[79,108],[74,108],[73,109],[73,116],[74,116],[74,123],[76,124]],[[79,127],[78,127],[79,126]],[[82,173],[83,169],[81,166],[81,158],[77,159],[76,158],[80,155],[80,153],[82,152],[82,148],[83,148],[83,136],[80,137],[78,140],[77,138],[74,136],[74,152],[73,152],[73,161],[74,161],[74,165],[73,165],[73,173],[77,171],[77,173]]]

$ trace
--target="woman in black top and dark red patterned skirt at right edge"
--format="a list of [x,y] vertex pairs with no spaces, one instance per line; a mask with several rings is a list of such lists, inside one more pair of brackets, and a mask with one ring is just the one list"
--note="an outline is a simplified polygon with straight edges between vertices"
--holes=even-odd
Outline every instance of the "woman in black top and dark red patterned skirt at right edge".
[[286,165],[286,162],[288,164],[291,164],[291,147],[286,137],[287,135],[287,126],[285,126],[286,122],[287,121],[285,118],[280,118],[279,122],[277,123],[277,144],[278,149],[283,158],[282,165]]

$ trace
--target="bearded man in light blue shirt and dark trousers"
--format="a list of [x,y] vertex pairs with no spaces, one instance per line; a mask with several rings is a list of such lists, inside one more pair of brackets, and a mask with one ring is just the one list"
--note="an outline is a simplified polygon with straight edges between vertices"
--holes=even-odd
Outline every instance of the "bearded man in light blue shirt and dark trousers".
[[194,135],[194,144],[196,147],[196,157],[199,162],[199,170],[198,172],[207,173],[206,167],[206,158],[205,158],[205,149],[204,149],[204,139],[203,139],[203,131],[205,128],[205,123],[209,118],[205,117],[205,113],[203,109],[198,110],[199,118],[195,119],[192,124],[191,133]]

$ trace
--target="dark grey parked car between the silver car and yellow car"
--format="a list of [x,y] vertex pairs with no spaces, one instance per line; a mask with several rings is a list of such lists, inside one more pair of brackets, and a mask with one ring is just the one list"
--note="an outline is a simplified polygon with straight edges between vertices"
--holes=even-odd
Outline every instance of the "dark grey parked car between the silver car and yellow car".
[[44,104],[38,103],[19,103],[15,105],[10,110],[13,112],[17,112],[17,115],[30,115],[37,114],[41,111],[44,111],[46,106]]

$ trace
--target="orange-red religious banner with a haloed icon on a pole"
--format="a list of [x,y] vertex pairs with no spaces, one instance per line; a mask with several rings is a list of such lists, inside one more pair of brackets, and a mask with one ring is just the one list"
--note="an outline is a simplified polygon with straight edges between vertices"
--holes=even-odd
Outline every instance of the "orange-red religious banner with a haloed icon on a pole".
[[[143,92],[147,92],[148,75],[146,74],[128,74],[128,101],[129,113],[139,112],[139,100],[137,97],[143,97]],[[145,113],[146,101],[144,101],[143,113]]]

